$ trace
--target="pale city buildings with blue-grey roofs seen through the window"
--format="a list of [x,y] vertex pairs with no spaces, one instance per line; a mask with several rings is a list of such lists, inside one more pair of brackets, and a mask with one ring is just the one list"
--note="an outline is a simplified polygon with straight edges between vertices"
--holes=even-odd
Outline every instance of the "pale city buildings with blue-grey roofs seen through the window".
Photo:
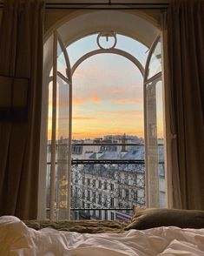
[[[121,142],[126,141],[126,150]],[[141,138],[105,136],[73,140],[71,172],[72,219],[130,219],[132,209],[146,207],[145,155]],[[98,145],[100,143],[100,145]],[[135,143],[136,145],[128,145]],[[160,207],[166,206],[163,140],[159,141],[158,173]],[[91,145],[92,144],[92,145]],[[96,145],[95,145],[96,144]],[[111,145],[113,144],[113,145]],[[117,145],[119,144],[119,145]],[[56,219],[66,219],[68,183],[64,162],[67,159],[66,139],[57,143]],[[61,147],[60,147],[61,145]],[[50,149],[50,144],[48,145]],[[63,161],[64,159],[64,161]],[[118,162],[119,161],[119,162]],[[50,173],[48,150],[48,180]],[[47,195],[49,208],[49,183]]]

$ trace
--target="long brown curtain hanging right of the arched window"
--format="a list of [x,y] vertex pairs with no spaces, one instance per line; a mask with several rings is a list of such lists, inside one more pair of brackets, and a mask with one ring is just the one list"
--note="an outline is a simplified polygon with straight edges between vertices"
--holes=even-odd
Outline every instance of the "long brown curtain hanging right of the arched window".
[[173,206],[204,210],[204,1],[173,1],[165,19]]

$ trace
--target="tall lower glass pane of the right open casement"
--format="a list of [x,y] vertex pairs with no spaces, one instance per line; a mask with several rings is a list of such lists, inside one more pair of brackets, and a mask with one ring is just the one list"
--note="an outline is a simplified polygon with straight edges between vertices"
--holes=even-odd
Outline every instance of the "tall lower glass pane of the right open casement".
[[166,206],[161,77],[146,84],[148,199],[150,207]]

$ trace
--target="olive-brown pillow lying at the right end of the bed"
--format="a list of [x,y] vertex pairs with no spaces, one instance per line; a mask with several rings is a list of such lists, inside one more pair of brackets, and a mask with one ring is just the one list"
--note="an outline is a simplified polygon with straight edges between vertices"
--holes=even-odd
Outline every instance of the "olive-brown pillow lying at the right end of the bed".
[[135,208],[129,229],[148,229],[158,226],[178,226],[181,228],[204,228],[204,211],[177,209]]

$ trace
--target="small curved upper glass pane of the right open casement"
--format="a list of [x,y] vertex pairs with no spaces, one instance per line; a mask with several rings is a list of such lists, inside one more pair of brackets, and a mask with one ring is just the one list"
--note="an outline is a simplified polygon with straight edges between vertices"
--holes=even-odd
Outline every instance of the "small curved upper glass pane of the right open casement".
[[148,78],[155,76],[161,72],[161,41],[155,46],[155,50],[152,53],[150,62],[148,64]]

